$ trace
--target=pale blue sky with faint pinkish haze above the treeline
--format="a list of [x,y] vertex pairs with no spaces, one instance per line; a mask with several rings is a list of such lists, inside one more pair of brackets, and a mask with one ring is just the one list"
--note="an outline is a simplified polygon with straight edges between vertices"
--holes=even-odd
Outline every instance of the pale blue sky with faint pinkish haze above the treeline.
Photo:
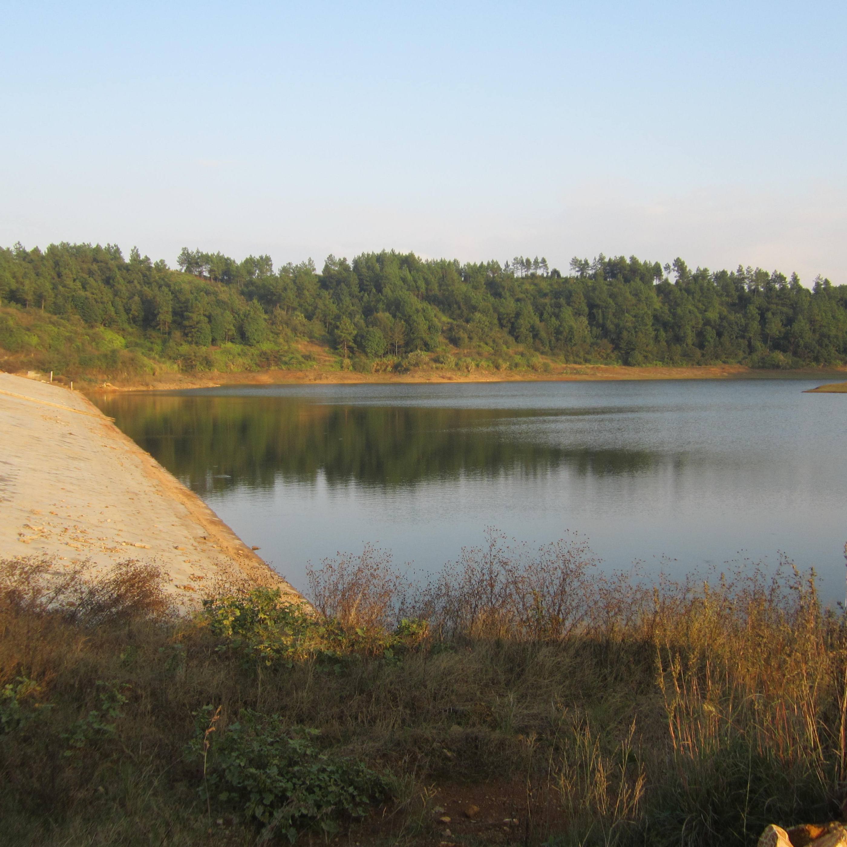
[[0,244],[847,283],[847,3],[4,3]]

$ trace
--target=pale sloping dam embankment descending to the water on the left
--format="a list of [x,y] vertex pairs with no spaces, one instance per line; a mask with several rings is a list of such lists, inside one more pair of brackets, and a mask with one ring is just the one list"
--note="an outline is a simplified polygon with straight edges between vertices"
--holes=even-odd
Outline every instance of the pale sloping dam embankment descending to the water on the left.
[[0,374],[0,435],[0,557],[154,562],[183,606],[216,582],[296,595],[78,391]]

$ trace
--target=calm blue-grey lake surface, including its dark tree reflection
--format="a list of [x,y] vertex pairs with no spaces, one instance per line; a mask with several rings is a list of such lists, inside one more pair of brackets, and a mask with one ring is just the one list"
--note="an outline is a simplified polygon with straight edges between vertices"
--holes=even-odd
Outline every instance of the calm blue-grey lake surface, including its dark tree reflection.
[[800,379],[238,386],[102,396],[293,584],[371,542],[419,570],[486,527],[602,567],[779,553],[844,596],[847,396]]

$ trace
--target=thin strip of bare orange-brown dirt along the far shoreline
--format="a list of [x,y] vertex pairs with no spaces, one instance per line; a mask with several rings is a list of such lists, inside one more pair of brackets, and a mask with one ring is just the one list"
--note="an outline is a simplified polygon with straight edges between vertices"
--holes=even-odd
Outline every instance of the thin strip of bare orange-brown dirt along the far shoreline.
[[542,380],[612,379],[826,379],[847,375],[847,368],[798,368],[762,370],[744,365],[705,365],[688,368],[629,368],[623,365],[560,365],[549,371],[486,371],[459,373],[451,369],[417,368],[408,374],[358,374],[353,371],[318,369],[305,371],[265,370],[231,374],[161,374],[123,382],[86,383],[82,390],[138,391],[209,388],[216,385],[355,385],[359,383],[457,383],[527,382]]

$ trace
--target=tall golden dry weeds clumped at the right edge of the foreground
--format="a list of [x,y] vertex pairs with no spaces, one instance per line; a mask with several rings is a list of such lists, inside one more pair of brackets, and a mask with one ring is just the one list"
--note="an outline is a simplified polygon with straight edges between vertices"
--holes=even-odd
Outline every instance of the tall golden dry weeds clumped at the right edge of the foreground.
[[[656,684],[666,778],[653,822],[687,844],[754,839],[769,820],[828,817],[844,801],[844,623],[814,574],[782,562],[656,592]],[[805,811],[803,811],[805,810]]]

